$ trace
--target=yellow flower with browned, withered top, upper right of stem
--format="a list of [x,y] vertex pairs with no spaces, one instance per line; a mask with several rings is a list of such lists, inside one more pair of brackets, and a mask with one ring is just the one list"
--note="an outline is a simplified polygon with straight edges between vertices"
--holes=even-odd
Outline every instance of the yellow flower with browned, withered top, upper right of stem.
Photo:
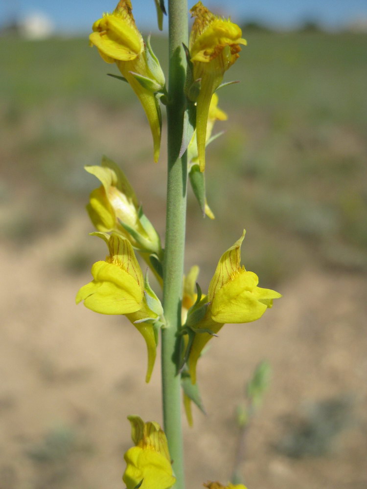
[[233,65],[246,45],[238,25],[213,15],[199,1],[190,10],[195,17],[189,51],[193,65],[193,79],[201,80],[197,97],[196,132],[200,170],[205,169],[206,124],[211,97],[223,80],[223,75]]

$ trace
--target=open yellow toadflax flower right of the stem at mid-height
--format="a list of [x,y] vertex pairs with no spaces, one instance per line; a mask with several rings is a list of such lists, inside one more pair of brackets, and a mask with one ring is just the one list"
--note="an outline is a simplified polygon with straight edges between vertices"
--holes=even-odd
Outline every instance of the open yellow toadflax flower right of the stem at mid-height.
[[[206,329],[218,333],[225,323],[248,323],[259,319],[264,312],[273,306],[273,299],[281,297],[279,292],[257,287],[258,277],[255,273],[241,267],[241,244],[245,231],[221,256],[213,278],[209,284],[207,296],[188,312],[200,317],[195,325],[196,330]],[[203,314],[198,314],[202,308]],[[197,333],[188,357],[188,366],[192,383],[196,383],[196,364],[199,356],[212,337],[210,333]]]

